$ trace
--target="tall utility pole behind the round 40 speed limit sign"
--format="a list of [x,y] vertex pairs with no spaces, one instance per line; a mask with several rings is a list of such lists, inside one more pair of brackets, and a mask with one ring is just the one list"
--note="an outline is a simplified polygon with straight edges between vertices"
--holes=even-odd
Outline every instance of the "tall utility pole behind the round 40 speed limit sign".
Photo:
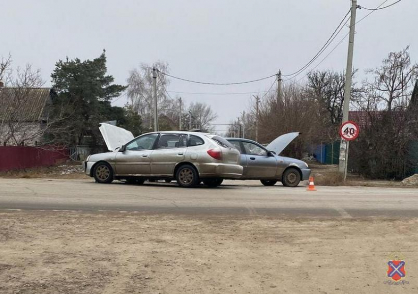
[[[351,0],[350,36],[348,40],[347,67],[346,67],[346,72],[345,72],[342,123],[348,121],[348,113],[350,110],[351,75],[352,75],[352,69],[353,69],[353,50],[354,50],[354,35],[355,35],[355,26],[356,26],[356,11],[357,11],[357,0]],[[349,141],[341,139],[338,170],[339,172],[344,174],[344,181],[347,177],[348,147],[349,147]]]

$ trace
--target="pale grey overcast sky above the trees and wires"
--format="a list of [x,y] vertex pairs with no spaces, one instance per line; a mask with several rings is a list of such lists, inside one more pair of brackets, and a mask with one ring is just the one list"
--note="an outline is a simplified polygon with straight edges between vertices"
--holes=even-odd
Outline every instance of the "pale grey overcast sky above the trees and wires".
[[[383,1],[358,4],[375,8]],[[156,60],[168,62],[172,75],[186,79],[252,80],[278,69],[283,74],[298,70],[322,47],[349,8],[350,0],[1,0],[0,55],[11,53],[15,66],[31,63],[41,69],[47,86],[57,60],[91,59],[103,49],[108,73],[121,84],[129,70]],[[368,12],[357,10],[357,19]],[[402,0],[361,21],[356,26],[353,66],[361,72],[379,66],[388,52],[407,45],[417,61],[417,12],[417,0]],[[334,43],[348,30],[345,27]],[[344,70],[347,44],[348,38],[318,69]],[[256,92],[269,88],[273,79],[239,86],[171,80],[168,90]],[[171,93],[173,98],[176,95]],[[186,102],[208,103],[218,113],[218,123],[230,122],[251,99],[249,94],[181,96]],[[125,102],[122,97],[115,104]]]

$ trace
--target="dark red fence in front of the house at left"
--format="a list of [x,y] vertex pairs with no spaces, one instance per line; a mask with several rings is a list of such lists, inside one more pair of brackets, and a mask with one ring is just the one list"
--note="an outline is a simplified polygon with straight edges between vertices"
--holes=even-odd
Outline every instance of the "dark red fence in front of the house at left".
[[67,149],[0,146],[0,171],[51,166],[69,159]]

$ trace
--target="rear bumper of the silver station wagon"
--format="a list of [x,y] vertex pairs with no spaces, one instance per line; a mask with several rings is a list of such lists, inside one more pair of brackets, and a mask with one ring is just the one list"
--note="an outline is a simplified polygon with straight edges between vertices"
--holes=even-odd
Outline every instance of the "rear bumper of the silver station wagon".
[[226,163],[200,163],[197,166],[201,178],[239,179],[242,176],[243,167],[238,164]]

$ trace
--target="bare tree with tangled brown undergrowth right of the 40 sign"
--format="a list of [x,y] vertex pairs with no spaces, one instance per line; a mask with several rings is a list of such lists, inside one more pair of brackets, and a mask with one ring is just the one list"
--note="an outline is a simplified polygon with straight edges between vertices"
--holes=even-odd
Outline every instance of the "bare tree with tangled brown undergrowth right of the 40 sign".
[[391,52],[380,68],[367,70],[356,103],[362,122],[353,142],[351,168],[366,177],[402,179],[418,166],[418,113],[414,84],[418,64],[412,64],[408,47]]

